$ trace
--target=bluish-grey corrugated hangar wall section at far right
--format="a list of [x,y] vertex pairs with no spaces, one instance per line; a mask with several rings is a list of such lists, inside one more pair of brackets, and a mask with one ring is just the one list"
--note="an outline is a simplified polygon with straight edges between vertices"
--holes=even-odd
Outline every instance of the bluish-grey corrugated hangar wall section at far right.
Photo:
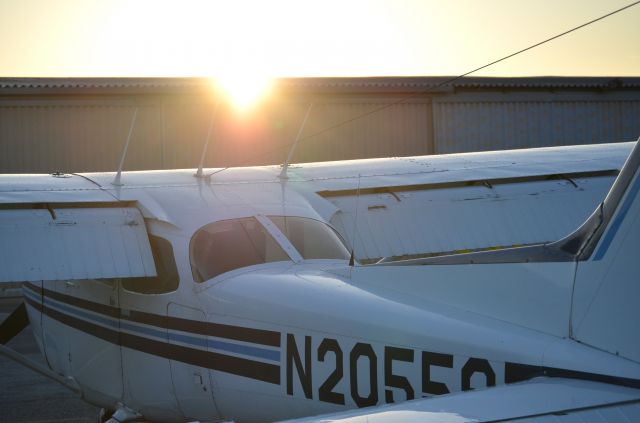
[[436,153],[633,141],[640,100],[437,101]]

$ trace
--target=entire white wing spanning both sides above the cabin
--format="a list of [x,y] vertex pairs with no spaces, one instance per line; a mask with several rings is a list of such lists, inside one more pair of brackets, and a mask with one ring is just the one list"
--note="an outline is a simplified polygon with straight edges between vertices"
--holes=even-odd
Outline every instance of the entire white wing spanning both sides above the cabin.
[[[542,243],[586,219],[634,144],[304,164],[288,186],[365,262]],[[154,276],[143,216],[189,230],[185,205],[202,215],[213,185],[248,187],[250,204],[278,174],[231,169],[203,189],[193,171],[134,172],[122,190],[111,173],[3,175],[0,282]]]

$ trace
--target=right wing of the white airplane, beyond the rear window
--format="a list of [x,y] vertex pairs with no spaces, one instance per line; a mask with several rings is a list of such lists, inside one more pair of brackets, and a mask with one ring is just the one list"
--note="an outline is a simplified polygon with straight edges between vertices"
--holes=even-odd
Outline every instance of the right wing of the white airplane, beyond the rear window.
[[323,217],[362,263],[421,258],[566,236],[602,201],[633,145],[304,164],[290,180],[333,207]]

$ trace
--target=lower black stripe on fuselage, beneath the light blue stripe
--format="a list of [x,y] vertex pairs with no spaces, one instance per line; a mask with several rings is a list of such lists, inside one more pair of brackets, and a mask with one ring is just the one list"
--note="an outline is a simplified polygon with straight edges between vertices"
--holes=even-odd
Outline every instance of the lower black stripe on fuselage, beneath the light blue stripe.
[[[29,287],[29,289],[37,291],[33,288],[34,287]],[[45,289],[44,291],[46,295],[46,291],[48,290]],[[24,298],[27,304],[46,314],[47,316],[59,321],[60,323],[63,323],[69,327],[85,332],[89,335],[95,336],[112,344],[167,358],[170,360],[181,361],[183,363],[192,364],[194,366],[218,370],[238,376],[244,376],[267,383],[273,383],[276,385],[280,384],[280,366],[278,365],[262,363],[259,361],[248,360],[240,357],[228,356],[211,351],[183,347],[181,345],[170,344],[167,342],[156,341],[142,336],[115,331],[62,313],[47,306],[46,304],[39,304],[27,296],[25,296]],[[53,296],[51,298],[53,298]],[[71,303],[68,302],[68,304]]]

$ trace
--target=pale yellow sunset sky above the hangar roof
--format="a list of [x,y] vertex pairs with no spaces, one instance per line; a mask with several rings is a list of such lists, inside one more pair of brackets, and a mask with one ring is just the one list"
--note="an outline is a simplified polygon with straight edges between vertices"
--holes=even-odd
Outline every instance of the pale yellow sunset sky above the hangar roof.
[[[0,77],[458,75],[632,0],[0,0]],[[640,5],[477,76],[640,76]]]

